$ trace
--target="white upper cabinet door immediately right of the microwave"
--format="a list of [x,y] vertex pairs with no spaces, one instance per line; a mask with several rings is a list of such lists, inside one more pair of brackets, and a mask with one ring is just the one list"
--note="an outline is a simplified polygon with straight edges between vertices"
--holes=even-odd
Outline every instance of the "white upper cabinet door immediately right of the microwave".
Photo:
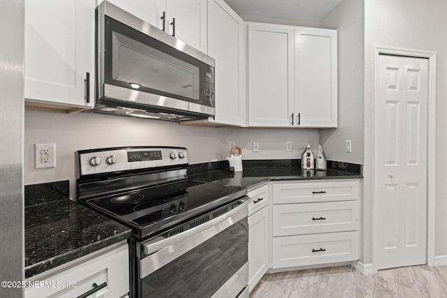
[[245,121],[244,22],[223,0],[208,1],[208,55],[216,59],[216,115],[221,124]]

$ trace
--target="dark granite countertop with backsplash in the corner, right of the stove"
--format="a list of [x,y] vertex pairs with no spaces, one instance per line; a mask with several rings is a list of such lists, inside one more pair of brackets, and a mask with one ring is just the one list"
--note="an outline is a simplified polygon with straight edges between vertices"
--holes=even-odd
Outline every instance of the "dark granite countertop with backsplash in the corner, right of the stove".
[[[296,164],[296,163],[293,163]],[[332,165],[332,164],[331,164]],[[255,164],[256,166],[256,164]],[[334,164],[334,166],[337,166]],[[287,181],[287,180],[314,180],[314,179],[362,179],[359,170],[351,170],[345,167],[344,170],[328,169],[324,171],[302,170],[300,167],[291,165],[258,164],[258,167],[244,167],[242,172],[229,172],[228,169],[214,170],[201,174],[189,175],[189,179],[226,184],[230,186],[242,186],[252,188],[256,184],[267,181]]]

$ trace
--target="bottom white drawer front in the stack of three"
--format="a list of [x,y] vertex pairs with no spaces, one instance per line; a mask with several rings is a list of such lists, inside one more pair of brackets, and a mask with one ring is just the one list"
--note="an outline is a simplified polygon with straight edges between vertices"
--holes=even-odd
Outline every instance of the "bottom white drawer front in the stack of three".
[[273,237],[273,268],[358,260],[358,232]]

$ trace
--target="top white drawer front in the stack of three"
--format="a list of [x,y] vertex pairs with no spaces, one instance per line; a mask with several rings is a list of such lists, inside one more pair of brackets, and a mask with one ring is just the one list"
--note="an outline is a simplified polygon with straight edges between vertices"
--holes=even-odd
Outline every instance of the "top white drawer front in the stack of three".
[[358,181],[318,181],[273,185],[273,204],[358,200]]

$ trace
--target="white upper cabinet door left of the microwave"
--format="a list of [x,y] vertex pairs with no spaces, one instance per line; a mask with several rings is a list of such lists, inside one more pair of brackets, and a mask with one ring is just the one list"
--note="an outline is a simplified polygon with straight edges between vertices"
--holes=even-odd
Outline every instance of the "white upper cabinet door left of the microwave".
[[24,97],[93,106],[95,1],[26,1],[25,22]]

